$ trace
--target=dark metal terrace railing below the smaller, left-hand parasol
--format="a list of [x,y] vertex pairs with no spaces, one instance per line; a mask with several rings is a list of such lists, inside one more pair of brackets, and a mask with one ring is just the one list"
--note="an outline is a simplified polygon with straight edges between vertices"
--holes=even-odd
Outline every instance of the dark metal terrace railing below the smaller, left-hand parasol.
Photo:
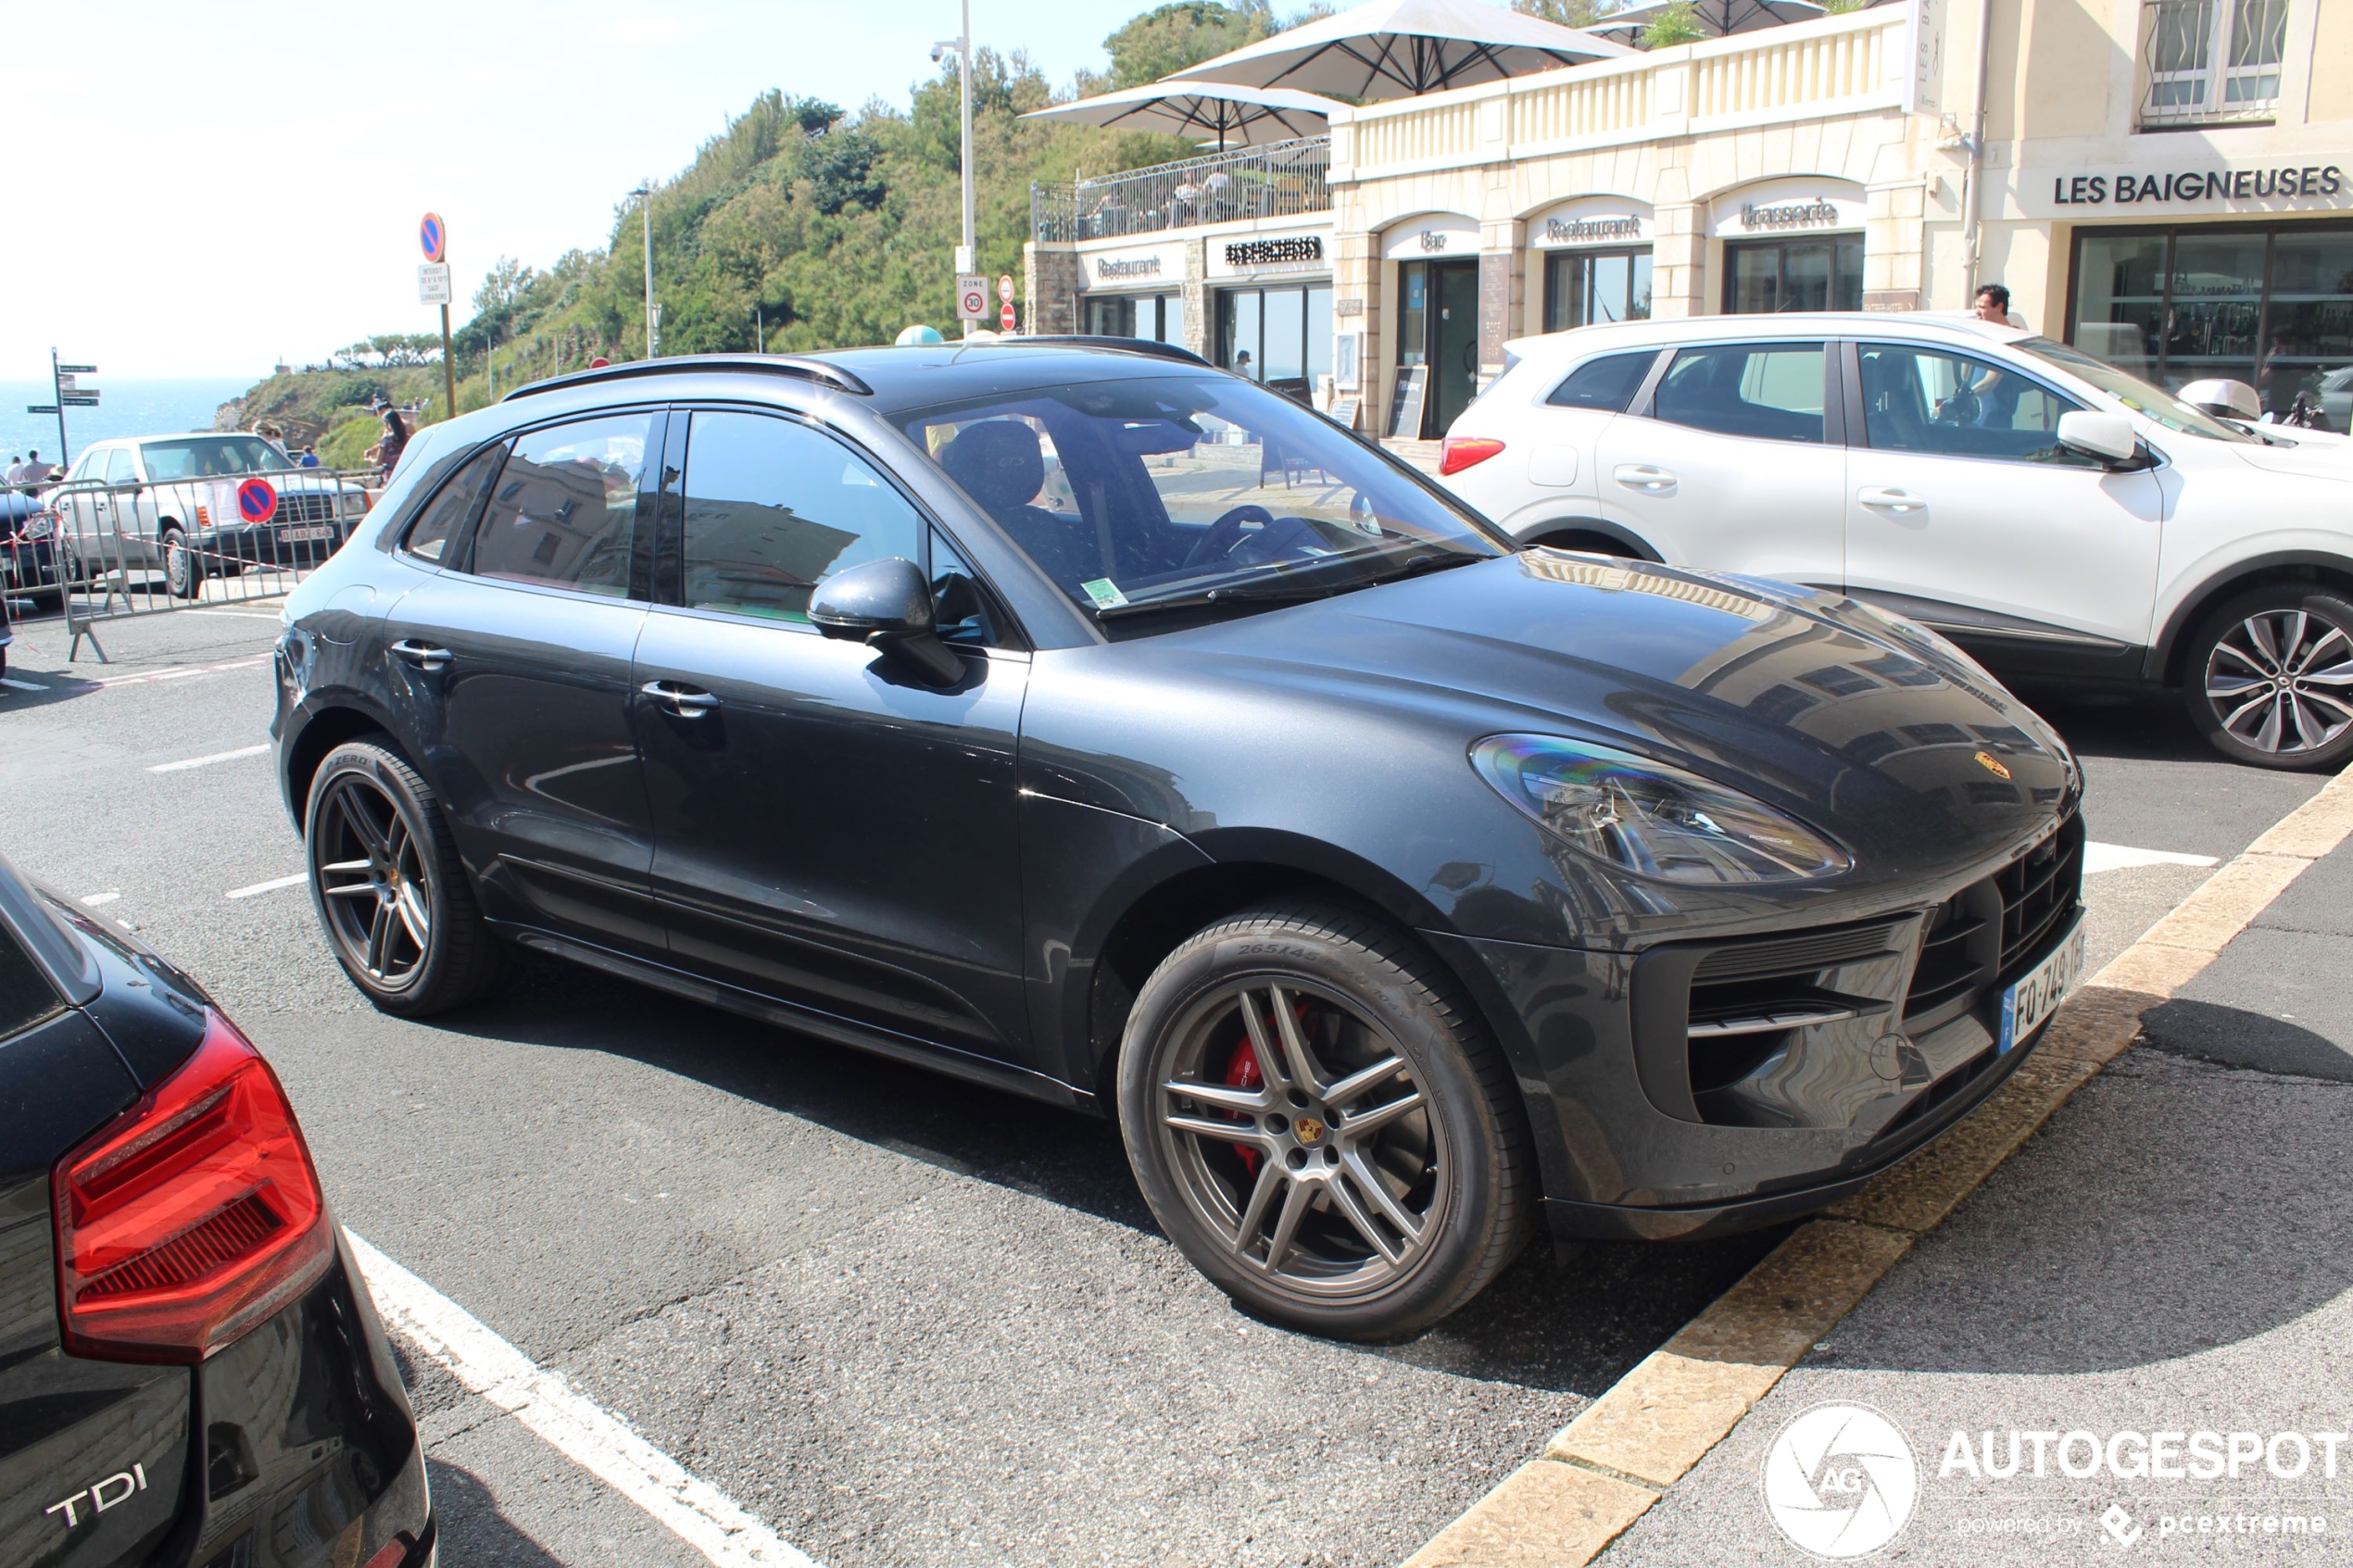
[[1233,219],[1304,219],[1332,212],[1329,174],[1332,139],[1301,136],[1068,186],[1033,181],[1031,237],[1071,244]]

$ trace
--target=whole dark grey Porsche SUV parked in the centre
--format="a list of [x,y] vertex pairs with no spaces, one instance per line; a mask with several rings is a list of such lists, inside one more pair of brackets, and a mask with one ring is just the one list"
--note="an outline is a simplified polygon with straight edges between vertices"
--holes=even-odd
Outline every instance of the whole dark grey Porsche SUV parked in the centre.
[[1518,550],[1181,350],[659,360],[419,440],[278,646],[353,983],[520,945],[1115,1114],[1287,1324],[1821,1206],[2082,961],[2078,766],[1953,646]]

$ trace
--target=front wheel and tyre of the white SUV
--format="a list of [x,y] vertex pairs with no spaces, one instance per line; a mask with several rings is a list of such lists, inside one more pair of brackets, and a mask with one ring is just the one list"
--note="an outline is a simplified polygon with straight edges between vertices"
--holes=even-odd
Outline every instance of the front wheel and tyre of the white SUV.
[[2249,588],[2191,639],[2184,698],[2231,762],[2344,766],[2353,757],[2353,602],[2308,583]]

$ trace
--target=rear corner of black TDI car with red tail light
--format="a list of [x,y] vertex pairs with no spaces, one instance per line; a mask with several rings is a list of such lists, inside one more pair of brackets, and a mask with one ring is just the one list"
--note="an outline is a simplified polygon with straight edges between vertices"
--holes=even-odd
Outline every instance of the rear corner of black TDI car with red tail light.
[[0,1561],[428,1568],[400,1373],[268,1063],[0,860]]

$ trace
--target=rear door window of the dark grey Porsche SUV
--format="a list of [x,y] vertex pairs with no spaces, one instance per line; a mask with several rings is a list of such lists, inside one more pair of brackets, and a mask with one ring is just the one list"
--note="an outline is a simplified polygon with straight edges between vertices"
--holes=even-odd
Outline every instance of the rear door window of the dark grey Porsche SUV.
[[612,414],[515,437],[473,541],[473,571],[628,597],[628,548],[652,414]]

